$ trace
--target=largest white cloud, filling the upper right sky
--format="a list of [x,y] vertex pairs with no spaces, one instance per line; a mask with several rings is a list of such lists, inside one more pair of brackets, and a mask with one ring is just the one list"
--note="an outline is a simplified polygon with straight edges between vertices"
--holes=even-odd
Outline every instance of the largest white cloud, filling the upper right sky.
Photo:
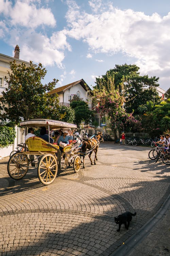
[[[89,1],[95,8],[95,1]],[[70,10],[67,13],[70,16]],[[94,53],[123,53],[136,58],[140,71],[154,73],[170,68],[170,13],[145,15],[131,9],[119,10],[111,4],[103,12],[89,14],[76,8],[67,35],[82,40]]]

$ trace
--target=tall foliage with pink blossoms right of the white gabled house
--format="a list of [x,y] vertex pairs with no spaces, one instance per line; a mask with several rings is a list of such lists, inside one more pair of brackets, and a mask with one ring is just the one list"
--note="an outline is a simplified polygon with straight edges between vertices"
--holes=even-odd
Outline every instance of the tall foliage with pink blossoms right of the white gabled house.
[[124,97],[120,94],[119,88],[115,88],[113,77],[107,75],[105,85],[102,80],[93,90],[93,101],[96,102],[96,111],[101,117],[110,118],[112,130],[119,132],[140,129],[140,122],[136,120],[132,114],[126,113],[124,105]]

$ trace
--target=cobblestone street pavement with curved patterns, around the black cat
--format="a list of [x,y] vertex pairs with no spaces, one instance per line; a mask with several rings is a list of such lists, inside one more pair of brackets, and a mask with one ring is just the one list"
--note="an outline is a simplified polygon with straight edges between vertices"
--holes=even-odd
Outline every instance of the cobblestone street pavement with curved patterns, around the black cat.
[[[150,149],[103,143],[97,165],[86,156],[85,169],[49,186],[36,169],[11,179],[1,159],[1,255],[169,255],[170,166]],[[137,215],[117,232],[114,216],[125,211]]]

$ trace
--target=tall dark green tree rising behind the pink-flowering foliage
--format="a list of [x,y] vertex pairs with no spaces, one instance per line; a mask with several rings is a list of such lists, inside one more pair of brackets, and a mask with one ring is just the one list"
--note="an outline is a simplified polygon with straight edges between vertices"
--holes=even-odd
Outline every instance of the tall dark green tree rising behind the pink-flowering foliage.
[[156,91],[159,78],[140,76],[139,67],[135,64],[116,65],[114,69],[108,70],[101,78],[96,78],[97,88],[100,83],[109,91],[107,87],[109,76],[114,79],[115,89],[119,89],[120,94],[124,96],[124,108],[128,113],[139,114],[137,109],[139,105],[146,104],[148,100],[157,102],[160,98]]

